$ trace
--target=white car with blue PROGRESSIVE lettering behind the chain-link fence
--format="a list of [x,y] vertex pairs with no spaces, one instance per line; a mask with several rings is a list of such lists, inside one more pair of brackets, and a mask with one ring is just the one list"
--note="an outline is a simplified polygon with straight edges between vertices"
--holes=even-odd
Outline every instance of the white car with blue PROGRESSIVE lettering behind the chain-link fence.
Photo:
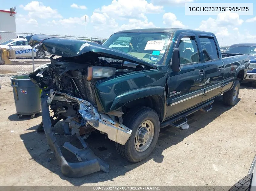
[[[16,57],[32,57],[32,48],[28,45],[26,39],[12,39],[0,44],[0,48],[6,48],[10,50],[15,50]],[[43,59],[45,56],[50,54],[43,50],[34,49],[34,55],[38,59]]]

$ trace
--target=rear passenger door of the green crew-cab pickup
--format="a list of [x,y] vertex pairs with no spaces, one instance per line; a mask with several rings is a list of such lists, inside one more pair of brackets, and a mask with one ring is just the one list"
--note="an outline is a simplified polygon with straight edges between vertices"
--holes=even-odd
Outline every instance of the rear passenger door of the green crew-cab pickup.
[[205,83],[202,101],[218,95],[222,88],[224,64],[214,36],[199,35],[199,41],[204,57]]

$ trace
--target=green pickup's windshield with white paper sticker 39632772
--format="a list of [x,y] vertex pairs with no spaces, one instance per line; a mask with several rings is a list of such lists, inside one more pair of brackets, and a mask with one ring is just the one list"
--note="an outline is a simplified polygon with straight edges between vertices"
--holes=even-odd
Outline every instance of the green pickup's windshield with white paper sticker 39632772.
[[115,33],[103,43],[103,46],[130,54],[151,64],[162,64],[170,37],[170,33]]

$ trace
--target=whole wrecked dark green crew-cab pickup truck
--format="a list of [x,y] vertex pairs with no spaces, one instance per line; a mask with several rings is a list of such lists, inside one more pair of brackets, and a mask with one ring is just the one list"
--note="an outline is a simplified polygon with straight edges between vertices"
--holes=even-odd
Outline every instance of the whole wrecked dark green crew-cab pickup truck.
[[[248,55],[222,59],[215,35],[197,30],[125,30],[103,45],[43,35],[27,39],[31,45],[40,43],[40,50],[62,56],[52,57],[51,64],[29,76],[42,89],[43,129],[68,177],[108,172],[108,164],[81,138],[91,131],[106,134],[123,158],[136,163],[150,155],[160,128],[188,128],[186,116],[210,111],[221,94],[224,104],[235,105],[249,62]],[[128,49],[116,43],[120,39],[129,39]],[[80,163],[67,162],[56,142],[52,126],[60,119],[65,119],[65,133],[84,145],[80,150],[64,144]]]

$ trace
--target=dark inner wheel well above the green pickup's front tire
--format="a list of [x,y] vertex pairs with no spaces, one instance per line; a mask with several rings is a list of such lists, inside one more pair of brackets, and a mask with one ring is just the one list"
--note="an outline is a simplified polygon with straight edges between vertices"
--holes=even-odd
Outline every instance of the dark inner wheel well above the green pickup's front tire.
[[162,99],[161,96],[158,95],[153,95],[153,96],[148,96],[148,97],[143,97],[137,100],[132,100],[128,103],[126,103],[122,107],[122,112],[127,113],[128,110],[136,108],[138,106],[145,106],[149,107],[158,114],[159,121],[161,121],[164,118],[164,100]]

